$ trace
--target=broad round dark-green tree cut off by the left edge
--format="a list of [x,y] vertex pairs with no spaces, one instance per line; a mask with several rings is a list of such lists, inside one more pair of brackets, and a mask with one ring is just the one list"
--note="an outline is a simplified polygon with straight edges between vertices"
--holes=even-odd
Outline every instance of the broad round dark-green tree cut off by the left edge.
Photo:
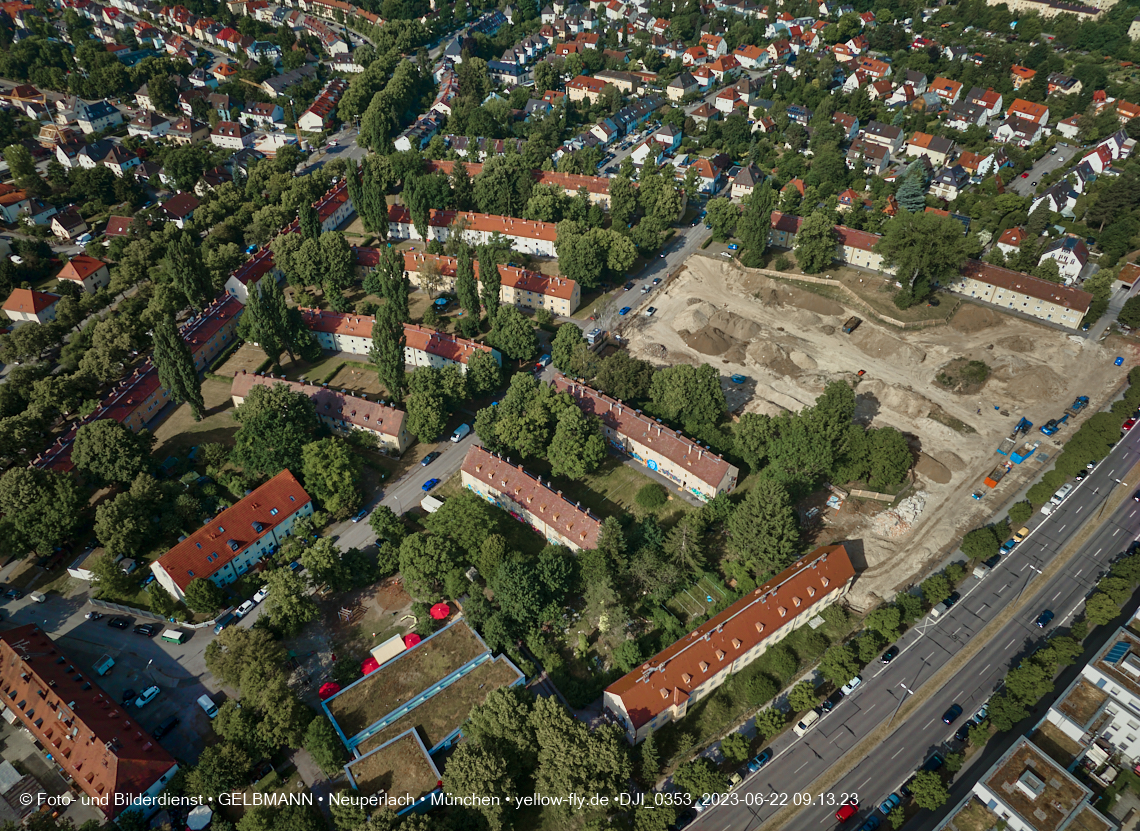
[[87,494],[66,473],[13,467],[0,476],[0,528],[16,551],[55,551],[79,527],[85,504]]

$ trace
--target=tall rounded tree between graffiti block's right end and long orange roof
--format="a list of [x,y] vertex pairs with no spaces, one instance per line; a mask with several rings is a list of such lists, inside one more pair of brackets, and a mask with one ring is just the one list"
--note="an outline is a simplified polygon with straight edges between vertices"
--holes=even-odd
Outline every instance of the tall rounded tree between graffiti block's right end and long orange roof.
[[762,479],[728,519],[728,547],[757,577],[787,568],[799,549],[799,523],[787,489]]

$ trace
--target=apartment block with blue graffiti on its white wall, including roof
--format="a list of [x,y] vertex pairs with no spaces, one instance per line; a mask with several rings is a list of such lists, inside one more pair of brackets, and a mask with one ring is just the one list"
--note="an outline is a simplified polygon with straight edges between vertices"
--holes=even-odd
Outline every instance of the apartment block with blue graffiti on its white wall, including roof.
[[674,482],[679,490],[708,500],[736,487],[740,471],[735,465],[679,430],[671,430],[641,410],[561,373],[554,376],[554,386],[559,392],[569,392],[583,412],[601,419],[602,432],[610,445]]

